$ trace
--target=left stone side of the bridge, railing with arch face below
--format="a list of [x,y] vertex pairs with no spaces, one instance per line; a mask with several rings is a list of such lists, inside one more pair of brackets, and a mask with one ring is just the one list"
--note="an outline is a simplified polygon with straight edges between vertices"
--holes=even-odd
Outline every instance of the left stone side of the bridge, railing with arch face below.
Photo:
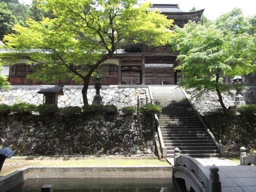
[[173,176],[184,179],[188,191],[192,187],[197,192],[221,192],[218,172],[217,166],[212,165],[208,170],[193,157],[180,155],[179,148],[174,149]]

